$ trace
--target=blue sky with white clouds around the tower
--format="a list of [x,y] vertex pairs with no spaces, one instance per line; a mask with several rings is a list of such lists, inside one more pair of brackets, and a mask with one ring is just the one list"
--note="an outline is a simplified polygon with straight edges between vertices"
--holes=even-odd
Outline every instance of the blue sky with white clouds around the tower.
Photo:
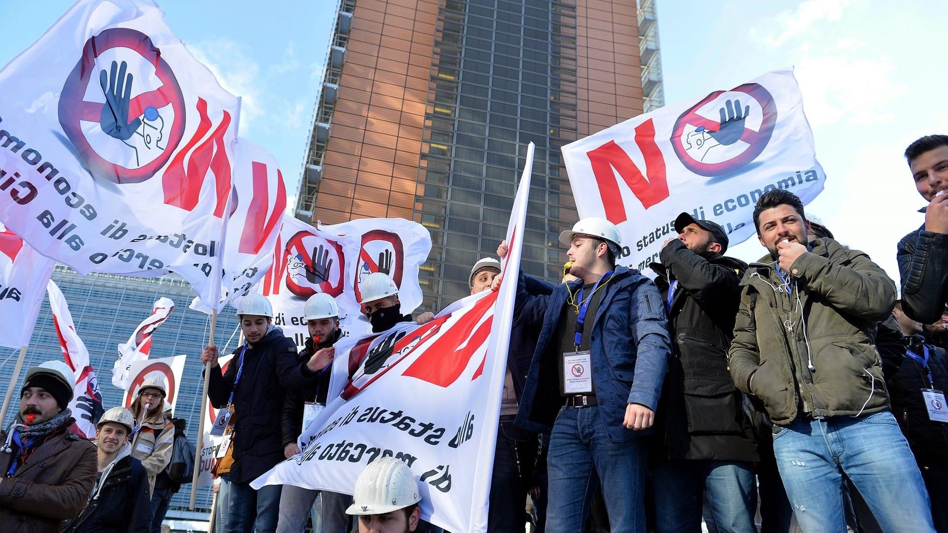
[[[896,243],[921,224],[915,211],[924,205],[902,152],[921,135],[948,131],[942,57],[948,2],[657,4],[665,101],[696,99],[795,66],[828,176],[808,211],[898,279]],[[35,42],[71,2],[42,5],[0,3],[0,64]],[[277,157],[287,189],[295,191],[336,1],[164,0],[159,6],[173,32],[244,97],[241,135]],[[756,260],[763,248],[751,241],[731,254]]]

